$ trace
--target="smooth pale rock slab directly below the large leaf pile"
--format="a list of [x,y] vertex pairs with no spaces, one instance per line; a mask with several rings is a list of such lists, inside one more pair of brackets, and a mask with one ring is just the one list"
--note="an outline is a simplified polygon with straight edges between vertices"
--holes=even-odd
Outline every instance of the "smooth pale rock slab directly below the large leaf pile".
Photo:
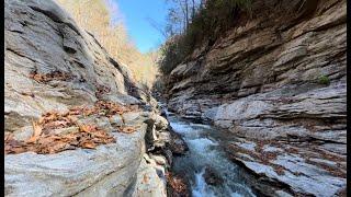
[[[139,167],[146,125],[116,143],[55,154],[4,157],[5,196],[123,196]],[[50,183],[50,184],[47,184]]]

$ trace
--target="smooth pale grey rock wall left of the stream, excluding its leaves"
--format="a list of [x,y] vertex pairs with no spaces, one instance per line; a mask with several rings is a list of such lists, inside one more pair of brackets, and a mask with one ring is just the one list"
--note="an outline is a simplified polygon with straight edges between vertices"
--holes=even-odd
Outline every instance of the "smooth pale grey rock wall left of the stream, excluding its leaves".
[[[32,121],[42,114],[101,100],[146,105],[148,97],[133,82],[128,69],[55,2],[7,0],[4,8],[5,135],[26,140],[33,135]],[[122,117],[80,119],[104,129],[115,143],[55,154],[7,154],[5,195],[166,196],[165,167],[150,162],[145,153],[155,140],[165,146],[168,123],[146,111],[150,107],[144,108]],[[118,124],[138,129],[116,132]],[[69,129],[75,128],[66,132]],[[151,136],[147,138],[150,144],[145,142],[147,136]]]

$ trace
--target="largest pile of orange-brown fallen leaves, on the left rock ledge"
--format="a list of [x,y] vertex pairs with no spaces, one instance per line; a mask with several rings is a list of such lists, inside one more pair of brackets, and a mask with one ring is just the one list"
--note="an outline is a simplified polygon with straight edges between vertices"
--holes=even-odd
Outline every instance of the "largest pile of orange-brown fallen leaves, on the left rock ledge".
[[[37,120],[32,121],[33,135],[30,139],[19,141],[13,135],[4,138],[8,154],[33,151],[39,154],[52,154],[76,148],[94,149],[99,144],[115,142],[113,136],[95,125],[81,125],[79,118],[90,115],[111,117],[115,114],[136,111],[135,106],[123,106],[112,102],[99,101],[93,107],[76,106],[67,113],[48,112]],[[69,132],[58,132],[58,129],[69,129]],[[73,128],[73,129],[70,129]],[[132,134],[134,127],[118,127],[118,131]]]

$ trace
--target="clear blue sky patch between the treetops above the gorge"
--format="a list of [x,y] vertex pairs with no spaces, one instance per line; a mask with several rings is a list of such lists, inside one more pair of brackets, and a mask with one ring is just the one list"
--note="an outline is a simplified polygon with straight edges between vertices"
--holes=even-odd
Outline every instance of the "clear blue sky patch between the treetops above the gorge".
[[117,3],[132,40],[141,53],[157,48],[165,37],[150,24],[151,19],[165,26],[166,0],[113,0]]

